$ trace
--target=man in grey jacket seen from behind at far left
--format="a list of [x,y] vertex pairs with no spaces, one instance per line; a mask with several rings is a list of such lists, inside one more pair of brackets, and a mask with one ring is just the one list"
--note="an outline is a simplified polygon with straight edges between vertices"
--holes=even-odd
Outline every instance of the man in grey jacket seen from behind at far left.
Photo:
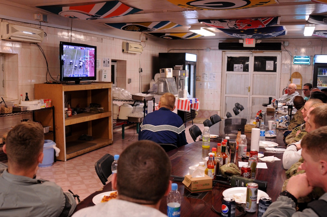
[[0,216],[70,216],[74,196],[54,182],[35,178],[43,160],[43,127],[22,122],[7,135],[8,168],[0,169]]

